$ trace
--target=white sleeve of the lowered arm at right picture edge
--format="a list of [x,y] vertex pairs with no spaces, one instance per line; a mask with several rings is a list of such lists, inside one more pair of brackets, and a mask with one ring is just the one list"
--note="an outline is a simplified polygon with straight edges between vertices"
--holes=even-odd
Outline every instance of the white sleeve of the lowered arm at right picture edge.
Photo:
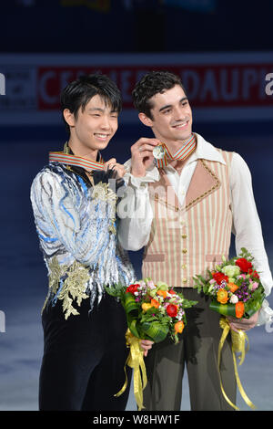
[[[246,247],[248,252],[254,256],[253,262],[268,297],[273,280],[254,200],[251,174],[247,163],[238,153],[233,154],[231,162],[230,190],[233,214],[232,229],[235,234],[237,255],[240,253],[241,247]],[[265,299],[259,312],[258,325],[268,322],[272,317],[273,310],[269,308],[268,301]]]

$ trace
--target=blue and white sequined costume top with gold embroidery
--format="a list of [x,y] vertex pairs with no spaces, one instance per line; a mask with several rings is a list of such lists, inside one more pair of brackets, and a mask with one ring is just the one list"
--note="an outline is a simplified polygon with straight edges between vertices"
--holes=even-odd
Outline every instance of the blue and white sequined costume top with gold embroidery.
[[90,298],[91,309],[100,302],[105,285],[134,282],[116,239],[116,194],[108,183],[87,186],[81,175],[51,162],[35,176],[31,202],[48,269],[45,306],[60,299],[67,319],[78,314],[74,304],[82,299]]

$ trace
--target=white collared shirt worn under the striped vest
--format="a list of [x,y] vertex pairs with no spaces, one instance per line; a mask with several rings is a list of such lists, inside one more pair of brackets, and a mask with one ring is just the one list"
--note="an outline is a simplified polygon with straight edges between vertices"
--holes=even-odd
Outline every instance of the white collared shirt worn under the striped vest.
[[[165,168],[167,178],[181,205],[186,198],[198,159],[226,164],[221,153],[212,144],[197,133],[196,136],[197,150],[188,157],[181,174],[177,173],[177,170],[171,165],[167,165]],[[139,250],[147,245],[154,217],[147,185],[159,180],[159,172],[156,166],[152,166],[147,170],[145,177],[134,177],[130,173],[130,165],[130,160],[125,163],[125,181],[128,184],[128,192],[117,207],[120,217],[118,239],[127,250]],[[247,163],[236,152],[233,152],[232,156],[229,186],[233,216],[232,232],[235,235],[237,255],[240,253],[241,247],[246,247],[248,252],[254,256],[253,263],[265,288],[266,296],[268,296],[273,280],[254,200],[251,174]],[[273,319],[273,310],[269,308],[268,301],[265,299],[259,313],[258,325],[271,319]]]

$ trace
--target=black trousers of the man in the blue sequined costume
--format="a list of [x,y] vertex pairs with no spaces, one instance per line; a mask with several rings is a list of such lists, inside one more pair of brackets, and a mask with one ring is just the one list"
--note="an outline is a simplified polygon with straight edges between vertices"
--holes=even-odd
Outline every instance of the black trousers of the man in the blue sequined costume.
[[[62,303],[43,311],[44,356],[40,371],[39,409],[56,411],[123,411],[126,317],[115,298],[106,296],[92,312],[89,299],[79,315],[64,318]],[[126,367],[128,385],[131,372]]]

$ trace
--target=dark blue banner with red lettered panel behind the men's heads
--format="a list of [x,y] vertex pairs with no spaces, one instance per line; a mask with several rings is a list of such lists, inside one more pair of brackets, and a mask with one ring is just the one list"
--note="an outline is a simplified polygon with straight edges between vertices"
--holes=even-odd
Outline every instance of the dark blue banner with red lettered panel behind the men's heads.
[[[182,79],[195,120],[273,118],[273,52],[200,54],[1,55],[0,123],[61,124],[59,96],[81,74],[100,71],[122,91],[121,123],[137,120],[131,92],[150,70],[169,70]],[[1,91],[0,91],[1,94]]]

